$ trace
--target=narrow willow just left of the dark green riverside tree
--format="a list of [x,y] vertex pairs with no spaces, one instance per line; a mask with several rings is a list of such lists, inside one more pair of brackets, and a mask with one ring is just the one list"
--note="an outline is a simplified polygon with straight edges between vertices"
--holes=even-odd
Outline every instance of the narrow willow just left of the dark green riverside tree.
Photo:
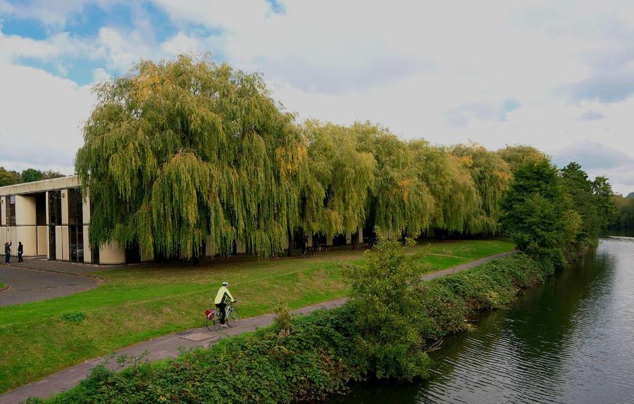
[[511,170],[495,152],[478,144],[457,144],[451,152],[468,168],[478,190],[478,209],[468,221],[471,233],[495,233],[499,230],[499,206],[509,188]]

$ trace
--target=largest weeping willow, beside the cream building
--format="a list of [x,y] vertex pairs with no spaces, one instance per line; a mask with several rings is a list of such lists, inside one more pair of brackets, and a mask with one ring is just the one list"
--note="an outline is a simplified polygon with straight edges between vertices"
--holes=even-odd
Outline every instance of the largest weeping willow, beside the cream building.
[[98,84],[75,170],[90,241],[189,258],[234,241],[281,251],[299,223],[306,147],[260,75],[208,58],[142,61]]

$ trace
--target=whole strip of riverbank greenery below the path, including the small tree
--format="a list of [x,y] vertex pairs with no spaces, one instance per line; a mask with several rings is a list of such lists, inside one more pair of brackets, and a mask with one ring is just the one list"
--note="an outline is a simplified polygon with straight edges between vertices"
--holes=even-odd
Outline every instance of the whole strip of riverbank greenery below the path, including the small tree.
[[[378,248],[368,258],[375,260],[368,269],[370,289],[377,289],[390,309],[400,314],[383,314],[383,303],[359,296],[360,301],[353,299],[342,308],[295,318],[282,338],[275,324],[222,339],[211,348],[186,351],[176,360],[137,361],[120,372],[98,366],[70,391],[30,403],[292,403],[324,400],[332,393],[345,393],[352,382],[372,377],[424,376],[430,365],[422,351],[425,340],[464,331],[468,328],[465,317],[501,308],[518,290],[552,274],[528,256],[515,254],[421,283],[416,270],[406,267],[409,259],[397,243],[383,241]],[[388,263],[380,265],[380,258]],[[357,282],[361,269],[351,271],[352,281]],[[382,292],[384,285],[380,285],[383,276],[399,282],[390,290],[404,295],[394,295],[392,300],[407,307],[388,302],[390,291]],[[378,346],[366,346],[369,341]],[[404,355],[412,342],[418,351]],[[398,362],[386,362],[390,358]],[[396,372],[397,367],[406,372]]]

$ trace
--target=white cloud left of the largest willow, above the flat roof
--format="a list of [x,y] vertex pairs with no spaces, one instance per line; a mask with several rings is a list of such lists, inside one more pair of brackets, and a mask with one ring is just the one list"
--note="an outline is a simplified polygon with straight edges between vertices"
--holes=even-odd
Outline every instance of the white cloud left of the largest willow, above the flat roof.
[[0,63],[0,160],[6,168],[65,168],[82,145],[80,125],[94,98],[89,87],[42,70]]

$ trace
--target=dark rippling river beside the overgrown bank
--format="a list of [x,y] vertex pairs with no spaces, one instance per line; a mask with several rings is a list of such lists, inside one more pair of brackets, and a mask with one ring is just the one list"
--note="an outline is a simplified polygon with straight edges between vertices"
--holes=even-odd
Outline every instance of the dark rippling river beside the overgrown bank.
[[596,249],[430,354],[430,379],[332,403],[634,403],[634,238]]

